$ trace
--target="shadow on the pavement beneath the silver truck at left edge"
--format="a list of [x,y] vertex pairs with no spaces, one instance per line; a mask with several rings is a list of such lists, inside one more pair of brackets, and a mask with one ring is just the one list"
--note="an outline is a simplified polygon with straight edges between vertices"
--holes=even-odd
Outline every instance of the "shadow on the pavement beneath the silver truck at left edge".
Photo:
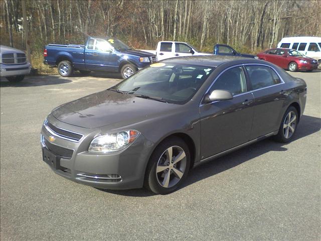
[[0,87],[32,87],[53,84],[65,84],[72,82],[70,79],[62,79],[55,75],[27,76],[18,83],[9,82],[6,78],[1,78]]

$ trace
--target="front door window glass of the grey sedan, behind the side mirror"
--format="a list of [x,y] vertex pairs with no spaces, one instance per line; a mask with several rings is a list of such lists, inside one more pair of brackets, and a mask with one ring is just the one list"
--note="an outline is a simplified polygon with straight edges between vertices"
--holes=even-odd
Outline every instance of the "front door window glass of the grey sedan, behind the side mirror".
[[215,89],[230,91],[233,95],[246,92],[246,81],[242,67],[226,70],[213,84],[210,92]]

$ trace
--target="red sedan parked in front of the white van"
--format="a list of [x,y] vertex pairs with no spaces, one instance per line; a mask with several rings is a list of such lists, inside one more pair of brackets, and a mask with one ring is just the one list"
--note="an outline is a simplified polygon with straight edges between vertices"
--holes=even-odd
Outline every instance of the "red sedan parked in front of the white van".
[[315,59],[308,58],[294,49],[269,49],[259,53],[257,57],[291,72],[317,69],[317,61]]

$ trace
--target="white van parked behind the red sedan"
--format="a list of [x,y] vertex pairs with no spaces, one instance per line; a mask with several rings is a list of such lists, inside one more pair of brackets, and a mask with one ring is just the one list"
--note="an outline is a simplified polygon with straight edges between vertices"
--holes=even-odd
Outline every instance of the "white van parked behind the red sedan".
[[321,38],[320,37],[288,37],[277,44],[277,48],[295,49],[307,57],[318,61],[321,68]]

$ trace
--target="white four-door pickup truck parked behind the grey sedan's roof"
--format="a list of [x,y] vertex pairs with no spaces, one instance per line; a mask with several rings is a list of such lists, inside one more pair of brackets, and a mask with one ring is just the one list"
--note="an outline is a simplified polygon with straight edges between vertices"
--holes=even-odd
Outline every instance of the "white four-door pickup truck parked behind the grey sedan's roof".
[[192,45],[184,42],[160,41],[156,50],[141,50],[157,56],[157,60],[174,58],[179,56],[201,56],[213,55],[210,53],[198,52]]

